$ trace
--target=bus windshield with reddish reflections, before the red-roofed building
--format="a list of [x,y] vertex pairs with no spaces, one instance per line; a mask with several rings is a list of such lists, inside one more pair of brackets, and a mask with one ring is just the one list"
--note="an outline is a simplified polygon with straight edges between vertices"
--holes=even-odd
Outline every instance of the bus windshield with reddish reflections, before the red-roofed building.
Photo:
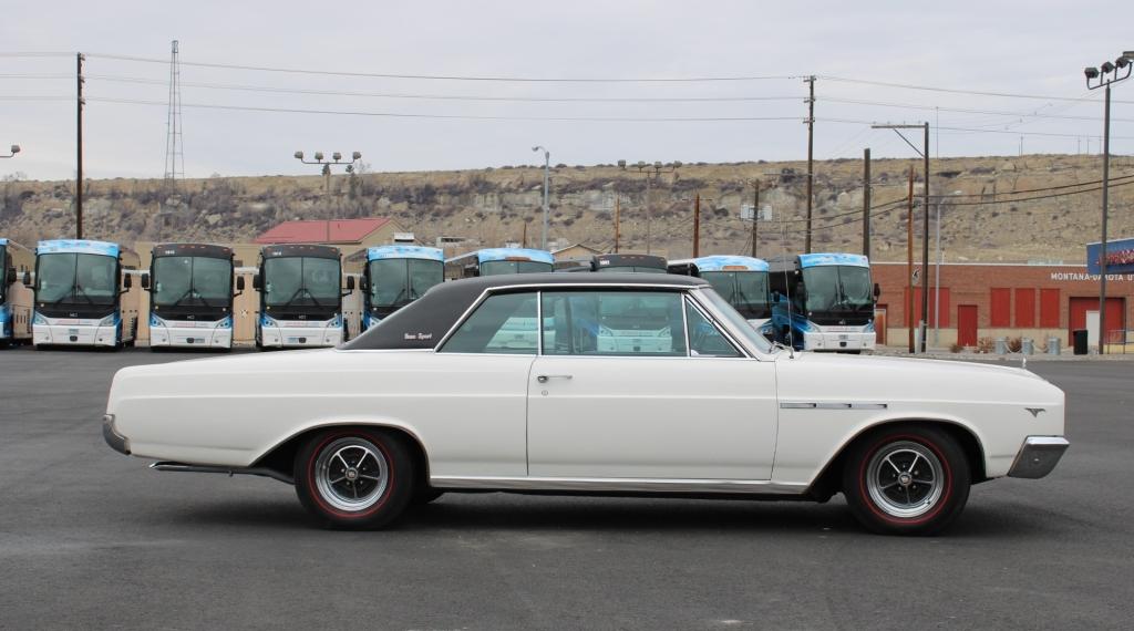
[[336,258],[287,256],[264,262],[264,304],[337,307],[341,271]]

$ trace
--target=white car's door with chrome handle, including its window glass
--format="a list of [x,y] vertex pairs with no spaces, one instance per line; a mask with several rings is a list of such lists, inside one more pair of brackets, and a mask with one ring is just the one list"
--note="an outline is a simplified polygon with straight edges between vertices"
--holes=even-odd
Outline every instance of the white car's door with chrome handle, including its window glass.
[[767,480],[771,361],[746,357],[680,291],[542,292],[528,378],[528,474]]

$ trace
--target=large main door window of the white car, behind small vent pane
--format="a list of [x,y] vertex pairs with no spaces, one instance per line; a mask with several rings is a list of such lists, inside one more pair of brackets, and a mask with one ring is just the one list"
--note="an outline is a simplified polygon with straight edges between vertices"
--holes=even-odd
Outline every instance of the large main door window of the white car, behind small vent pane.
[[682,295],[544,291],[543,353],[684,357]]

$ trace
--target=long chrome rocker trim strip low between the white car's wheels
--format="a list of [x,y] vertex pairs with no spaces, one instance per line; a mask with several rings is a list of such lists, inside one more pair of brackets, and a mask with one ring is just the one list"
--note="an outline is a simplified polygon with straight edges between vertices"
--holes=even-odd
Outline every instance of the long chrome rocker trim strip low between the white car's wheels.
[[547,478],[498,476],[431,476],[437,488],[488,491],[583,491],[623,493],[760,493],[801,495],[806,484],[773,480],[712,480],[652,478]]

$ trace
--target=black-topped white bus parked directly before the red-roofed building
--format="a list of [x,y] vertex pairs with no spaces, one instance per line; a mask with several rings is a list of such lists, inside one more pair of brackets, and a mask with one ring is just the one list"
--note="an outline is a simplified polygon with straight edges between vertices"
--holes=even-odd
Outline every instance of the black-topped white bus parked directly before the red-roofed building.
[[[264,246],[253,287],[260,290],[256,348],[335,347],[344,341],[339,248]],[[347,292],[354,291],[347,276]]]

